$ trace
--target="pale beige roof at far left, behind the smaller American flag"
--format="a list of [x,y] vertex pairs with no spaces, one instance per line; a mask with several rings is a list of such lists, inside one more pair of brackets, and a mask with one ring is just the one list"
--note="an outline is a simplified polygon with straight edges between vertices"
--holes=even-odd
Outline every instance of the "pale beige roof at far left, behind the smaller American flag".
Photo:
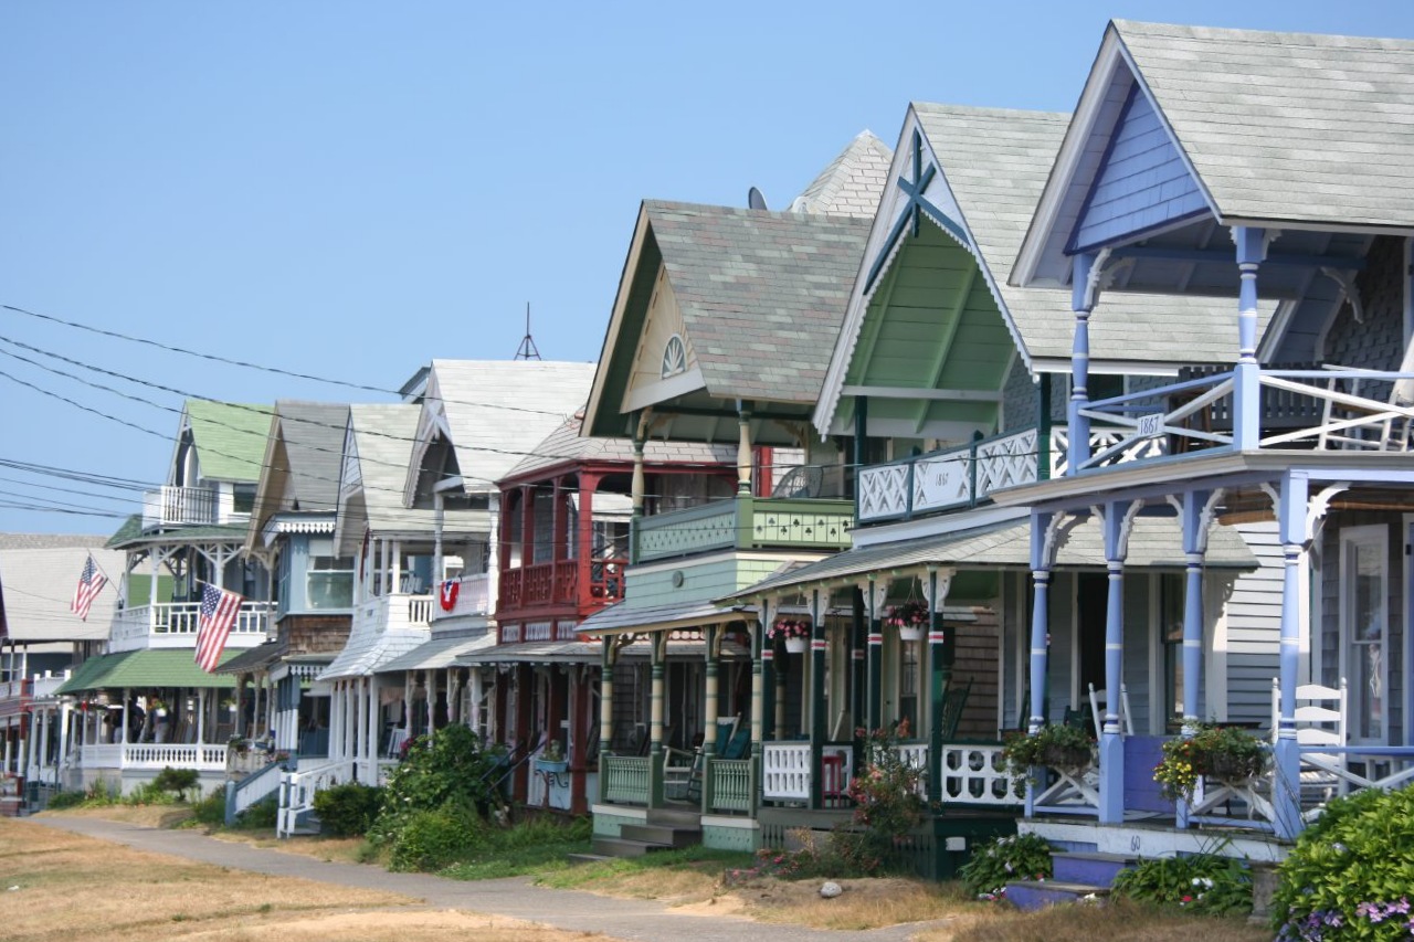
[[[102,536],[86,536],[81,546],[45,546],[40,535],[0,540],[0,598],[4,604],[4,631],[0,638],[17,642],[102,641],[107,638],[113,607],[123,583],[124,554],[103,549]],[[16,546],[18,545],[18,546]],[[107,576],[89,610],[88,621],[69,611],[74,590],[89,556]]]

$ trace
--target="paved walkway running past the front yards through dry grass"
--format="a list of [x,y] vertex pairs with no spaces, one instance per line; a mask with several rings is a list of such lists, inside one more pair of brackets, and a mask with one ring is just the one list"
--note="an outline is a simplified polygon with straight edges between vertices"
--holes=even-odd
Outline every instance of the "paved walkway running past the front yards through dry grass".
[[922,925],[901,925],[870,932],[831,932],[792,925],[754,924],[742,917],[704,917],[673,912],[653,900],[619,900],[575,890],[547,890],[523,877],[461,881],[414,873],[387,873],[382,867],[327,863],[280,850],[216,840],[197,830],[143,827],[99,818],[41,815],[25,820],[58,827],[137,850],[173,854],[221,867],[250,870],[277,877],[301,877],[342,887],[400,892],[436,909],[468,909],[515,917],[530,922],[578,932],[602,932],[618,939],[679,942],[735,942],[759,926],[772,942],[904,942]]

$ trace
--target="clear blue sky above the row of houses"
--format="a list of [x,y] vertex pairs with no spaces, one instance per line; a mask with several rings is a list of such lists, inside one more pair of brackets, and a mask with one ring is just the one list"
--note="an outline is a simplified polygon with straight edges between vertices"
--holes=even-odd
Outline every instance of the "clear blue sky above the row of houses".
[[[782,208],[911,99],[1070,110],[1110,17],[1414,38],[1408,0],[510,6],[0,6],[0,304],[397,388],[510,358],[529,301],[546,359],[592,361],[643,198]],[[378,399],[0,310],[0,460],[48,468],[160,484],[182,396],[7,341],[219,399]],[[0,467],[0,530],[137,509]]]

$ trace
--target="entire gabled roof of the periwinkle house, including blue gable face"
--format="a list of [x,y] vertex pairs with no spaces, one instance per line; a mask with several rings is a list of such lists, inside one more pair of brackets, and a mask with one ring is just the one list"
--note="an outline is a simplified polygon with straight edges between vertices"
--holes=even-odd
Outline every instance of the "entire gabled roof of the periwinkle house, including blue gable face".
[[[1200,223],[1284,232],[1291,257],[1414,231],[1414,42],[1110,23],[1011,280],[1063,284],[1076,249]],[[1311,231],[1326,235],[1297,238]],[[1230,246],[1206,232],[1145,248]],[[1295,293],[1264,272],[1274,286]]]

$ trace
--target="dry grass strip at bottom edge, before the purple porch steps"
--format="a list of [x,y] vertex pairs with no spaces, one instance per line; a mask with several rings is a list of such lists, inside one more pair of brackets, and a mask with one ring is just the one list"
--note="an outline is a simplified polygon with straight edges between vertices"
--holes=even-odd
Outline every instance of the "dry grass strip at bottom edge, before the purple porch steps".
[[1240,918],[1196,917],[1134,902],[1060,905],[1038,912],[969,905],[945,926],[915,942],[1270,942],[1271,929]]

